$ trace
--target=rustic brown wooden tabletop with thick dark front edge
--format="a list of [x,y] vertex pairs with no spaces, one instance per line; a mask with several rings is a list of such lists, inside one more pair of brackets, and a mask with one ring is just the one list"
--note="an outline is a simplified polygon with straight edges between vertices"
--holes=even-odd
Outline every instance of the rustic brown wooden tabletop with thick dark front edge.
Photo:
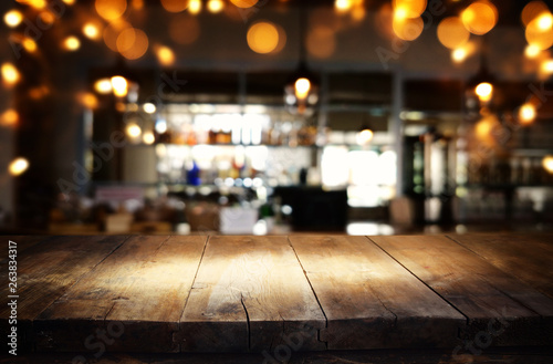
[[[551,235],[4,240],[17,242],[21,353],[259,353],[271,363],[553,344]],[[0,266],[8,300],[8,257]],[[3,337],[10,314],[2,304]]]

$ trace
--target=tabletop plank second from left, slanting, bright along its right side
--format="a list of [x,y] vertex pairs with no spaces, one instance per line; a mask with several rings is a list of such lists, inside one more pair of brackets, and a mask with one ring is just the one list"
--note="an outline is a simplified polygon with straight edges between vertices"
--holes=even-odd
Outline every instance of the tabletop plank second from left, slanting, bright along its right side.
[[128,239],[40,315],[36,349],[178,352],[173,335],[206,240]]

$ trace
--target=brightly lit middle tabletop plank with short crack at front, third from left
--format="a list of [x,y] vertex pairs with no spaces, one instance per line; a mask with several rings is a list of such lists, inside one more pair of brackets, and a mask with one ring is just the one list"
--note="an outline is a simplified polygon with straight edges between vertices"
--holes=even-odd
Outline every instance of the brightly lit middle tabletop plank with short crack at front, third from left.
[[210,237],[180,321],[185,352],[322,350],[325,319],[285,237]]

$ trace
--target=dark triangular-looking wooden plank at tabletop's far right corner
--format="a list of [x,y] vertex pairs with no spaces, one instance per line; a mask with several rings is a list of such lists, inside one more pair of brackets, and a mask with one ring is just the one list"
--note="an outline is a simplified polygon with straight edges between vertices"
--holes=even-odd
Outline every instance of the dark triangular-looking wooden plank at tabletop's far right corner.
[[502,271],[553,298],[553,236],[451,235]]

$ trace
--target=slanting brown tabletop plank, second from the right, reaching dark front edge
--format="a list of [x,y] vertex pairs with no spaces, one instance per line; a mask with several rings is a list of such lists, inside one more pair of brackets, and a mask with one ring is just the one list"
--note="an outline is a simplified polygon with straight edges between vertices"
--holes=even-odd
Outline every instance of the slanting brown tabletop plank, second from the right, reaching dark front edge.
[[551,343],[553,301],[470,250],[442,236],[371,239],[469,319],[468,343]]

